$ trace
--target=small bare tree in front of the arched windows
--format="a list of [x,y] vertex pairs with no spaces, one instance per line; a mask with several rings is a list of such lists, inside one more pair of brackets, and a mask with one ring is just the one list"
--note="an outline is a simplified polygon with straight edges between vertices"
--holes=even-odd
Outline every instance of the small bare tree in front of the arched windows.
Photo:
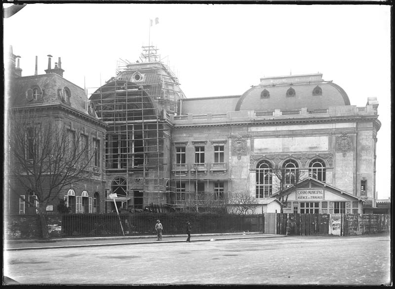
[[270,173],[273,177],[274,186],[276,187],[276,198],[281,203],[280,212],[283,213],[284,207],[288,202],[286,190],[297,188],[300,181],[306,178],[305,173],[299,168],[285,168],[279,165],[271,166]]

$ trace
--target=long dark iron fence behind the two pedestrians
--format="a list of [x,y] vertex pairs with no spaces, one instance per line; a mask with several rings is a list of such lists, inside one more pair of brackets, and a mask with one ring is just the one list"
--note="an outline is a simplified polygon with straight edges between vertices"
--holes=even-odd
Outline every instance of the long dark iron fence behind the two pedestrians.
[[[164,235],[186,233],[186,222],[193,234],[263,231],[263,215],[197,214],[197,213],[121,213],[64,214],[63,237],[153,235],[156,220],[163,225]],[[121,226],[122,225],[122,226]],[[123,233],[122,233],[123,229]]]

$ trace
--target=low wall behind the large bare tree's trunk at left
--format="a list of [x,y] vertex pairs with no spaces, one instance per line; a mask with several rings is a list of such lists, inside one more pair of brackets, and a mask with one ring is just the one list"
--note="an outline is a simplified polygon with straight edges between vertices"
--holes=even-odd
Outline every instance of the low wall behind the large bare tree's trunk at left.
[[[62,216],[46,215],[49,238],[59,238],[62,233]],[[8,215],[5,217],[4,235],[7,240],[40,239],[40,217],[38,215]]]

